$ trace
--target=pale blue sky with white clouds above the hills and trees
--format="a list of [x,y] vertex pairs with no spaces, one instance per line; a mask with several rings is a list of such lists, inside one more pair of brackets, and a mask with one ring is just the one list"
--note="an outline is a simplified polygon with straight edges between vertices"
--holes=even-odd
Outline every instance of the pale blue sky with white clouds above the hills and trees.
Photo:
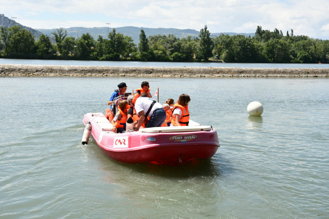
[[148,27],[254,33],[257,26],[329,39],[329,0],[1,0],[0,13],[35,29]]

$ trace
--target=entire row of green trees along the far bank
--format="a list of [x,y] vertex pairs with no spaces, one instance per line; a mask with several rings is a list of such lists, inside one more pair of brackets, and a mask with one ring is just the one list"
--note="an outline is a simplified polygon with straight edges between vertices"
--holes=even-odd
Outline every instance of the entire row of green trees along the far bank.
[[313,39],[293,34],[293,30],[263,30],[258,26],[255,36],[220,35],[211,37],[207,25],[199,37],[179,39],[173,34],[146,37],[140,30],[139,44],[130,36],[116,33],[94,40],[89,33],[79,38],[68,37],[66,31],[49,36],[33,35],[19,26],[1,27],[0,49],[5,58],[133,60],[133,61],[208,61],[254,63],[329,63],[329,40]]

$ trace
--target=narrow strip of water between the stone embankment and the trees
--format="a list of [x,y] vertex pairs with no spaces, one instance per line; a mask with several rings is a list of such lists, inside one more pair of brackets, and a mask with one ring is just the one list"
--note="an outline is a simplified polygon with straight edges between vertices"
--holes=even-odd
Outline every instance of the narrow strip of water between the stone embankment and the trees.
[[329,64],[277,64],[277,63],[215,63],[215,62],[133,62],[133,61],[75,61],[4,59],[0,64],[24,65],[85,65],[85,66],[155,66],[155,67],[226,67],[226,68],[329,68]]

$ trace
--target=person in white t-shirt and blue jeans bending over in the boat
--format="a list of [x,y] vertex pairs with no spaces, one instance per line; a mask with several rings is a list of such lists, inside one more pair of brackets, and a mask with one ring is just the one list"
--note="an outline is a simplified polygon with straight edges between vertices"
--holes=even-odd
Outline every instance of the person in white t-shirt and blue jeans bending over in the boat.
[[166,118],[162,105],[148,97],[137,98],[135,102],[135,110],[139,116],[138,123],[134,127],[135,131],[139,130],[147,116],[150,117],[150,120],[147,122],[145,128],[160,127]]

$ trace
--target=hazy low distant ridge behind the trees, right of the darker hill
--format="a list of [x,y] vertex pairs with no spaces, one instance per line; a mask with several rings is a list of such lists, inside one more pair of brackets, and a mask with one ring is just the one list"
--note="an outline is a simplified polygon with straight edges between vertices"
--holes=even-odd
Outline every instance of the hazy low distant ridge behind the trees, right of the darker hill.
[[[109,33],[112,31],[113,28],[109,28]],[[139,34],[140,29],[143,29],[146,36],[153,36],[153,35],[168,35],[173,34],[178,38],[186,38],[187,36],[192,37],[199,37],[200,31],[192,30],[192,29],[175,29],[175,28],[145,28],[145,27],[117,27],[115,28],[116,33],[122,33],[123,35],[131,36],[134,39],[136,44],[139,43]],[[38,31],[42,32],[45,35],[52,36],[51,32],[56,32],[56,29],[37,29]],[[101,35],[103,38],[107,38],[108,29],[107,27],[93,27],[93,28],[86,28],[86,27],[71,27],[71,28],[63,28],[63,30],[67,31],[67,36],[81,36],[83,33],[89,33],[95,40],[97,40],[98,36]],[[78,30],[78,31],[77,31]],[[211,37],[219,36],[222,33],[211,33]],[[242,34],[245,36],[254,36],[255,33],[227,33],[224,32],[223,34],[228,34],[230,36]]]

